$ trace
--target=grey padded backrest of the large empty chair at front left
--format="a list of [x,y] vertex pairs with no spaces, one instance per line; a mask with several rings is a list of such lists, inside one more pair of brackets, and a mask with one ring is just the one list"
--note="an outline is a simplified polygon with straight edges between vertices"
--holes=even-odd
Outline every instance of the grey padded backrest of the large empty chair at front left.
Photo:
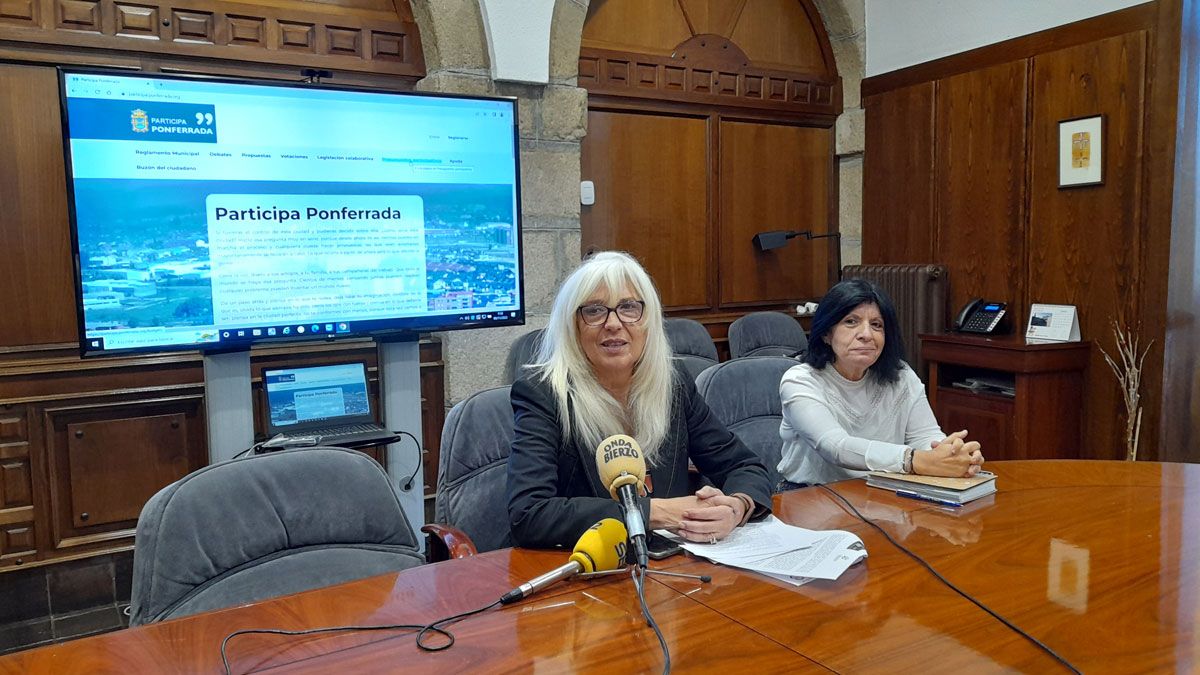
[[414,567],[416,537],[383,467],[344,448],[206,466],[146,502],[131,625]]

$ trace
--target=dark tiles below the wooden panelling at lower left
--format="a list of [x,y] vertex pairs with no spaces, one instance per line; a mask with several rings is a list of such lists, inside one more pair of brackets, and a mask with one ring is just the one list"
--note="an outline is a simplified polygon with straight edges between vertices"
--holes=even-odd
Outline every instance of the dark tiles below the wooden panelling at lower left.
[[133,554],[0,574],[0,653],[128,625]]

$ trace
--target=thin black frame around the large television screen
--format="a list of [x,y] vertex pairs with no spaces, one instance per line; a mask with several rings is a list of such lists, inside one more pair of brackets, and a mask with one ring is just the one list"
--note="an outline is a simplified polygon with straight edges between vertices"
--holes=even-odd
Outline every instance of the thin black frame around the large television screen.
[[[242,77],[227,77],[227,76],[206,76],[206,74],[184,74],[184,73],[157,73],[157,72],[145,72],[145,71],[133,71],[125,68],[103,68],[103,67],[70,67],[59,66],[56,67],[59,78],[59,106],[60,106],[60,124],[59,129],[62,136],[62,160],[64,160],[64,175],[66,178],[66,192],[67,192],[67,221],[71,228],[71,255],[74,263],[74,291],[76,291],[76,322],[79,331],[79,354],[80,358],[96,358],[96,357],[113,357],[113,356],[131,356],[131,354],[155,354],[155,353],[170,353],[170,352],[200,352],[200,353],[222,353],[222,352],[240,352],[248,351],[251,347],[258,345],[288,345],[288,344],[311,344],[311,342],[334,342],[342,340],[362,340],[365,338],[377,339],[379,341],[396,341],[396,340],[415,340],[421,333],[442,333],[451,330],[472,330],[476,328],[504,328],[512,325],[524,325],[526,323],[526,292],[524,292],[524,238],[523,238],[523,217],[522,217],[522,201],[521,201],[521,123],[520,123],[520,102],[516,96],[496,96],[496,95],[472,95],[472,94],[457,94],[457,92],[442,92],[442,91],[412,91],[412,90],[397,90],[397,89],[376,89],[370,86],[355,86],[355,85],[340,85],[330,84],[328,82],[310,83],[305,80],[275,80],[275,79],[257,79],[257,78],[242,78]],[[245,84],[256,86],[275,86],[281,89],[317,89],[328,91],[349,91],[360,94],[382,94],[388,96],[398,97],[414,97],[414,98],[458,98],[469,101],[493,101],[493,102],[506,102],[512,106],[512,161],[514,161],[514,220],[516,225],[516,241],[517,241],[517,295],[518,295],[518,309],[516,310],[504,310],[504,313],[516,312],[516,316],[506,318],[479,318],[479,319],[460,319],[454,323],[446,323],[446,316],[455,315],[436,315],[425,317],[409,317],[409,318],[390,318],[390,319],[376,319],[380,322],[388,322],[389,325],[380,328],[367,328],[353,330],[350,333],[338,333],[338,334],[320,334],[320,335],[277,335],[277,336],[251,336],[247,335],[245,339],[233,339],[229,341],[221,341],[216,344],[187,344],[187,345],[156,345],[152,347],[127,347],[127,348],[89,348],[89,338],[86,330],[86,316],[83,309],[83,267],[80,261],[79,251],[79,222],[76,214],[76,196],[74,196],[74,167],[73,159],[71,154],[71,133],[68,129],[68,113],[67,113],[67,90],[66,79],[67,76],[72,74],[95,74],[95,76],[108,76],[108,77],[142,77],[148,79],[167,79],[167,80],[182,80],[182,82],[203,82],[214,84]],[[496,312],[463,312],[466,315],[480,313],[488,315]],[[299,323],[299,322],[298,322]],[[359,323],[362,323],[361,321]],[[353,324],[352,324],[353,325]]]

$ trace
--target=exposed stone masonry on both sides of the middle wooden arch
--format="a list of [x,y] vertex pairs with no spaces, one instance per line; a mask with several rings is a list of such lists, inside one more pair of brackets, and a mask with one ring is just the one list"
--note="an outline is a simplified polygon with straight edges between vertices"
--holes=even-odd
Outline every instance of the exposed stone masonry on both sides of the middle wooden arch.
[[[839,221],[842,264],[862,259],[864,0],[816,0],[842,78],[838,119]],[[425,91],[516,96],[521,113],[521,204],[527,324],[443,333],[446,406],[500,384],[509,345],[542,328],[554,292],[580,259],[580,142],[587,133],[587,90],[577,86],[587,0],[557,0],[550,38],[550,83],[493,82],[479,0],[413,2],[421,30]],[[503,38],[503,36],[492,36]]]

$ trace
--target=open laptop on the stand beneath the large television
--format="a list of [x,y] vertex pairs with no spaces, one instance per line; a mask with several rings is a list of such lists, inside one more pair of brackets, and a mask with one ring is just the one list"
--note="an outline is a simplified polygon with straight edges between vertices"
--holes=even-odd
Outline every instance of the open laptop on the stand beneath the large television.
[[269,446],[364,447],[396,438],[374,422],[364,363],[264,370],[263,389]]

